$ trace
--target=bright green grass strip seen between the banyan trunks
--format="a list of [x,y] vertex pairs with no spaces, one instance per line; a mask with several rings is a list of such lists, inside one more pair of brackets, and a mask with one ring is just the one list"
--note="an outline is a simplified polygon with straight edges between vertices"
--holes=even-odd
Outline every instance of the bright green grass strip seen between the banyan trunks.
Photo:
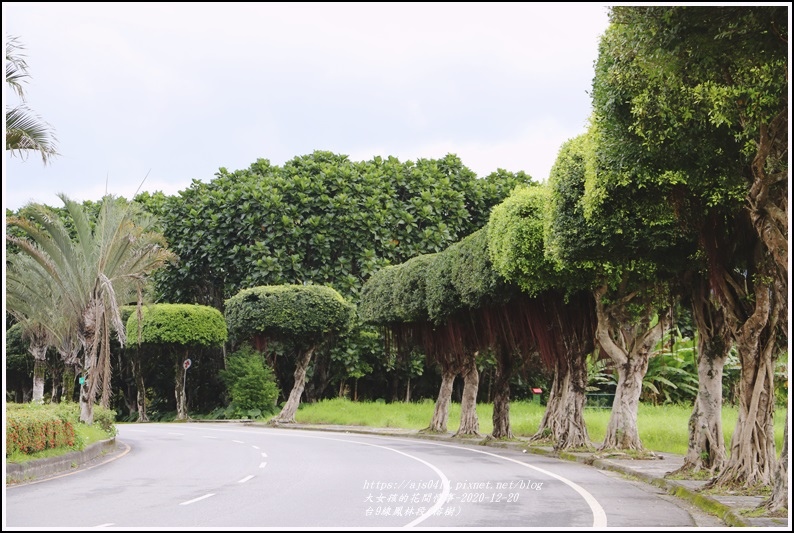
[[[404,428],[420,430],[430,424],[433,416],[432,400],[417,403],[395,402],[352,402],[346,399],[323,400],[313,404],[301,404],[295,415],[295,421],[303,424],[334,424],[343,426],[367,426],[381,428]],[[545,406],[531,402],[518,401],[510,403],[510,428],[516,437],[529,437],[535,434],[543,417]],[[595,443],[604,440],[609,409],[586,409],[585,424],[590,440]],[[653,406],[641,404],[637,414],[637,426],[643,446],[655,452],[685,455],[688,444],[689,416],[692,407],[685,405]],[[477,404],[477,417],[480,421],[480,433],[487,435],[493,431],[492,404]],[[730,439],[736,427],[738,409],[725,406],[722,410],[725,446],[730,447]],[[460,404],[452,403],[449,407],[447,429],[455,432],[460,422]],[[775,411],[775,446],[782,450],[783,428],[786,424],[786,412]]]

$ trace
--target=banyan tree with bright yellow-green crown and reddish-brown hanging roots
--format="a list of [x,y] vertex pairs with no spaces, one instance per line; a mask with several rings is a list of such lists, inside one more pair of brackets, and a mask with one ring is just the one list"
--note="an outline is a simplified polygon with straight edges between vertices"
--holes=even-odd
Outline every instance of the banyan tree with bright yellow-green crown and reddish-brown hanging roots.
[[584,422],[586,357],[594,350],[596,323],[585,268],[566,269],[546,253],[544,231],[549,191],[516,189],[491,212],[488,245],[494,269],[524,294],[512,302],[513,322],[526,328],[541,359],[554,369],[546,412],[534,438],[557,449],[590,447]]

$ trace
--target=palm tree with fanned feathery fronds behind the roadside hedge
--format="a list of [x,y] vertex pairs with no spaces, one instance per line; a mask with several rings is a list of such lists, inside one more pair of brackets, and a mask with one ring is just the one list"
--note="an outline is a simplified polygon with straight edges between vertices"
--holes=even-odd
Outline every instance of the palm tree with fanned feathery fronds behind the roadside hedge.
[[6,240],[32,257],[47,274],[59,294],[67,323],[74,324],[83,347],[80,420],[93,422],[93,405],[102,391],[103,404],[110,398],[110,335],[126,341],[121,306],[141,305],[148,275],[175,255],[166,248],[162,234],[152,230],[154,219],[136,203],[105,196],[96,220],[86,207],[60,194],[74,224],[72,238],[64,220],[50,208],[29,204],[24,216],[11,216],[8,226],[24,237]]

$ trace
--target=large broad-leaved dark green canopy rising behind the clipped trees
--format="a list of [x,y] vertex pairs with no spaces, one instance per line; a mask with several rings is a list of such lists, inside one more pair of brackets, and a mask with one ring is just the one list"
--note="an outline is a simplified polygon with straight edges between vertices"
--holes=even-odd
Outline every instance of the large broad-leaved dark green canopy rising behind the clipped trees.
[[241,289],[328,285],[357,303],[378,269],[434,253],[482,227],[524,173],[484,179],[450,154],[354,162],[325,151],[273,166],[220,169],[179,196],[145,199],[181,262],[158,279],[163,299],[222,308]]

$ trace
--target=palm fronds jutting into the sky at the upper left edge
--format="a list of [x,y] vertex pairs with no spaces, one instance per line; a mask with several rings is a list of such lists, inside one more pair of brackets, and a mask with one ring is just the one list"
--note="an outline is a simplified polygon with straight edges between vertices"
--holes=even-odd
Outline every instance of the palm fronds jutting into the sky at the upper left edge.
[[29,151],[39,152],[46,165],[58,155],[57,139],[52,127],[36,115],[25,103],[22,84],[27,82],[28,64],[20,53],[22,45],[17,37],[9,36],[6,41],[6,83],[17,93],[22,103],[16,107],[6,107],[6,150],[11,155],[25,157]]

